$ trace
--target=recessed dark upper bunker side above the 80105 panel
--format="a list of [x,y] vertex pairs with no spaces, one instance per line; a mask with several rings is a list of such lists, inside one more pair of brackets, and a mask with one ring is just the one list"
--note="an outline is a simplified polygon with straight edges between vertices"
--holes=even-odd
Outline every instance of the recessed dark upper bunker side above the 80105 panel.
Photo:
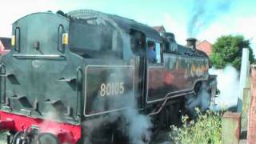
[[85,58],[122,58],[122,38],[112,26],[70,23],[70,50]]

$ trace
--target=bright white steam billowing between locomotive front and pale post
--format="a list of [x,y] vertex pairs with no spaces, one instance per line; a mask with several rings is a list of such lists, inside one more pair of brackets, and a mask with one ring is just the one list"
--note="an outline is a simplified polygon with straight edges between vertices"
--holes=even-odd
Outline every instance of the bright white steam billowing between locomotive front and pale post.
[[239,78],[238,71],[233,66],[226,66],[223,70],[211,69],[210,74],[217,74],[218,90],[220,94],[215,99],[215,109],[228,109],[238,102]]

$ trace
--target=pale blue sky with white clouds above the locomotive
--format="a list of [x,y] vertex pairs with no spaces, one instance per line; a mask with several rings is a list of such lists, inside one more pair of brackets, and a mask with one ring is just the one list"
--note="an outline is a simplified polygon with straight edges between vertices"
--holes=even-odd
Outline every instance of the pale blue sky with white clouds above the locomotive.
[[[222,35],[242,34],[256,49],[255,0],[1,0],[0,37],[11,37],[12,23],[27,14],[78,9],[164,26],[183,45],[189,37],[214,43]],[[193,20],[196,22],[191,24]],[[188,31],[194,27],[194,34],[190,34]]]

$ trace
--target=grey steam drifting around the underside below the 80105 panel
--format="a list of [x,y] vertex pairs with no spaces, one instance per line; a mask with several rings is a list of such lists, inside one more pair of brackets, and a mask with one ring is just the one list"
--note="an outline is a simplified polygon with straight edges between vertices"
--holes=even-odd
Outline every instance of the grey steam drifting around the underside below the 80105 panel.
[[113,134],[117,134],[114,131],[127,137],[129,143],[144,144],[150,142],[152,124],[149,117],[139,114],[135,107],[130,107],[127,110],[87,120],[83,122],[83,126],[86,130],[86,144],[95,141],[110,142],[113,140]]

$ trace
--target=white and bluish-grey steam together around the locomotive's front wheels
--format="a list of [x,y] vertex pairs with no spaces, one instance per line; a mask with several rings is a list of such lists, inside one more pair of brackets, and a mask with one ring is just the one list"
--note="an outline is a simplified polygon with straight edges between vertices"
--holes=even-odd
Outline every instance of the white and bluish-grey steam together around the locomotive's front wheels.
[[[220,94],[214,99],[211,105],[210,93],[207,91],[206,84],[202,84],[201,90],[197,95],[186,96],[186,109],[195,116],[194,108],[201,110],[208,108],[212,110],[226,110],[237,105],[239,90],[239,74],[233,66],[226,66],[223,70],[210,69],[210,74],[217,75],[217,88]],[[210,106],[210,107],[209,107]]]

